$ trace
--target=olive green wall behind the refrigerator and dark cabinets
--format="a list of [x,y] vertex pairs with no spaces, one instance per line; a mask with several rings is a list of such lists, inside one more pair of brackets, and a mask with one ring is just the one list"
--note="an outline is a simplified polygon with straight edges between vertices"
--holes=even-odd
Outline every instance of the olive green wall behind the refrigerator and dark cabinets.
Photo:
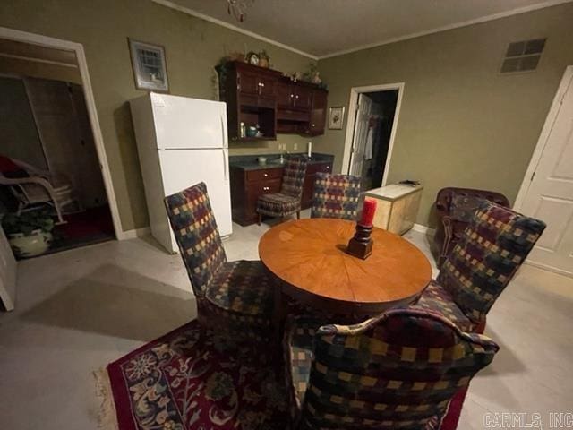
[[[224,4],[221,5],[224,7]],[[232,51],[266,49],[286,73],[307,69],[309,58],[205,22],[150,0],[3,0],[0,26],[79,42],[85,49],[99,124],[124,230],[149,224],[128,100],[135,90],[127,38],[166,48],[167,76],[174,95],[214,99],[212,68]],[[231,153],[299,149],[307,139],[279,136],[277,142],[241,144]]]

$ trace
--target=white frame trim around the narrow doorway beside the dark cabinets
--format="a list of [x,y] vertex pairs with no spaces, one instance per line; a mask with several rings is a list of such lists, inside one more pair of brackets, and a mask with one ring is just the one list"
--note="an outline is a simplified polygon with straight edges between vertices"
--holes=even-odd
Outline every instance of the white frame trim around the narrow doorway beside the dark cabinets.
[[404,95],[404,82],[382,83],[379,85],[368,85],[365,87],[352,87],[350,89],[350,101],[348,103],[348,119],[346,120],[346,138],[344,141],[344,153],[342,156],[342,172],[350,172],[350,162],[352,161],[352,146],[355,137],[356,109],[358,107],[358,95],[364,92],[378,92],[388,90],[398,90],[398,100],[396,101],[396,110],[394,111],[394,121],[392,122],[392,131],[390,132],[390,142],[388,145],[388,154],[384,163],[384,173],[382,174],[382,186],[386,185],[388,180],[390,160],[392,159],[392,150],[394,149],[394,139],[396,138],[396,129],[398,128],[398,116],[402,106],[402,97]]

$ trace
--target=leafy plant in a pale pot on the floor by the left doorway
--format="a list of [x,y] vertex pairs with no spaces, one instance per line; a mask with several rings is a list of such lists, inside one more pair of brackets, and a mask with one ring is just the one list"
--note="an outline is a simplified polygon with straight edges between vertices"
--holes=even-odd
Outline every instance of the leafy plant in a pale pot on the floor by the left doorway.
[[33,257],[50,247],[54,219],[47,210],[8,213],[2,219],[2,227],[17,257]]

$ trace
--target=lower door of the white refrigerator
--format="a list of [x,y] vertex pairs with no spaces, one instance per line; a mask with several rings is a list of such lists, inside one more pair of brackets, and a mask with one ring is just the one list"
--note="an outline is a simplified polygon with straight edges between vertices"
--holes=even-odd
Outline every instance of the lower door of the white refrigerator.
[[[160,150],[159,161],[166,195],[204,182],[220,236],[233,232],[228,150]],[[173,249],[177,251],[175,237]]]

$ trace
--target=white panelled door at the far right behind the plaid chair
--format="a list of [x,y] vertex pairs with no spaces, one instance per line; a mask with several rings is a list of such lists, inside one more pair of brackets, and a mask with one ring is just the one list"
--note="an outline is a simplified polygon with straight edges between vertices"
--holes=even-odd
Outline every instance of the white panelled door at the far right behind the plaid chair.
[[573,67],[561,82],[543,132],[543,152],[519,208],[547,224],[528,262],[573,275]]

